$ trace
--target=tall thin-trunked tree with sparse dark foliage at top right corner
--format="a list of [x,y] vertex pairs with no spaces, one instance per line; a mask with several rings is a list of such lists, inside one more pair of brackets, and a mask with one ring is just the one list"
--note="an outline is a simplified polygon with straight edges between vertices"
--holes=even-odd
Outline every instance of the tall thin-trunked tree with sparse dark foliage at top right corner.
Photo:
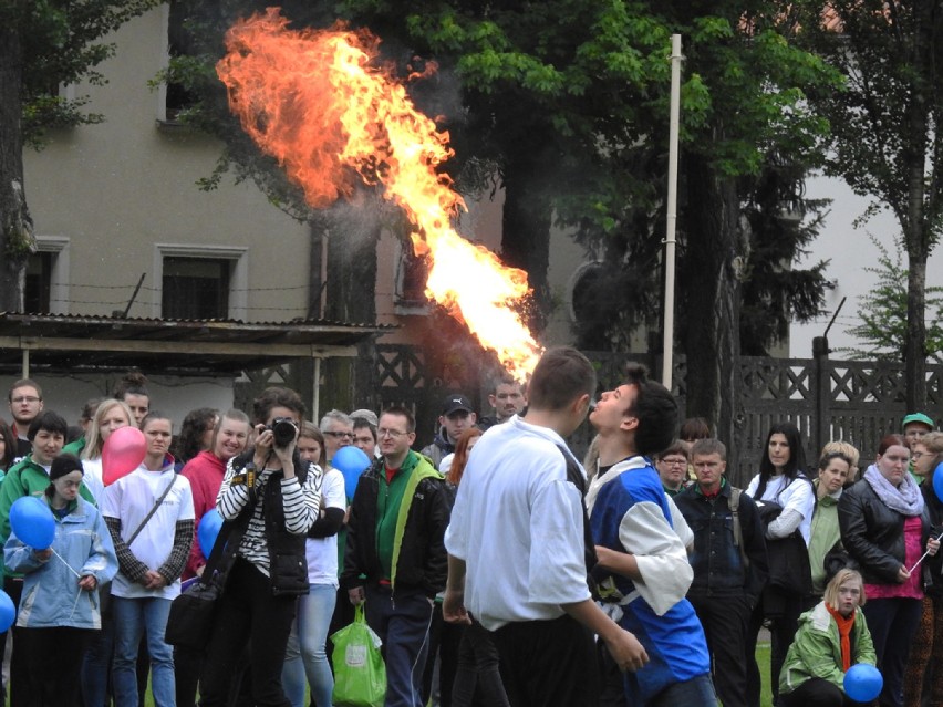
[[831,123],[828,174],[870,210],[889,209],[908,254],[908,409],[926,407],[926,260],[943,228],[943,11],[939,2],[806,0],[792,3],[797,35],[846,77],[810,94]]

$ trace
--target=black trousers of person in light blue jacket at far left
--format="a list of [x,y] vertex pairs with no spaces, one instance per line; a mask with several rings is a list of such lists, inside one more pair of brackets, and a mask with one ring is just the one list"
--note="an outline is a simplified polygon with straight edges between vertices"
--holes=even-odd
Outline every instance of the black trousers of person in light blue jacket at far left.
[[82,657],[95,631],[59,626],[18,628],[14,640],[29,666],[17,680],[27,684],[33,707],[80,707]]

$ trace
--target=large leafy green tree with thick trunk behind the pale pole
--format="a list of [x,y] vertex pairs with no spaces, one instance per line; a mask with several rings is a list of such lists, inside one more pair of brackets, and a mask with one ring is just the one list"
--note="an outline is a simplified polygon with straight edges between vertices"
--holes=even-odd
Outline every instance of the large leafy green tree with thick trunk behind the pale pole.
[[[652,181],[663,183],[664,174],[669,35],[683,33],[688,409],[729,439],[753,239],[744,218],[752,191],[743,185],[774,155],[784,165],[815,164],[825,125],[806,110],[806,91],[836,83],[821,61],[787,41],[777,8],[726,2],[707,11],[701,3],[616,0],[452,0],[414,2],[406,12],[382,0],[345,7],[384,39],[398,38],[460,77],[467,112],[449,125],[457,152],[467,142],[468,154],[498,165],[507,190],[502,254],[514,262],[525,250],[538,289],[551,209],[584,240],[612,246],[625,267],[603,284],[623,287],[653,262],[629,254],[633,241],[660,239],[652,217],[662,199]],[[651,320],[650,280],[633,297],[636,319]],[[802,306],[819,300],[812,291]]]

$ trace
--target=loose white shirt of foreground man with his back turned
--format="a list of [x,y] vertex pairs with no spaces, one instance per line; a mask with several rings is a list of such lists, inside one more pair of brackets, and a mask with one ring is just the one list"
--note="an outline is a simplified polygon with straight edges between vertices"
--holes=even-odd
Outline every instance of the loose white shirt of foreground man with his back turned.
[[469,455],[445,547],[465,560],[465,607],[489,631],[590,597],[582,499],[558,446],[557,433],[515,416]]

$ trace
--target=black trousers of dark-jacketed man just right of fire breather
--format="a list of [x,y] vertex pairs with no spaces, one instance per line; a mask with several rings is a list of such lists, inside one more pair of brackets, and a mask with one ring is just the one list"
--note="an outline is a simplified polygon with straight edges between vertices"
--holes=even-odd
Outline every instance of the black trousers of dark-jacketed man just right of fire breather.
[[742,596],[687,597],[701,620],[711,653],[714,689],[724,707],[747,707],[747,655],[750,607]]

